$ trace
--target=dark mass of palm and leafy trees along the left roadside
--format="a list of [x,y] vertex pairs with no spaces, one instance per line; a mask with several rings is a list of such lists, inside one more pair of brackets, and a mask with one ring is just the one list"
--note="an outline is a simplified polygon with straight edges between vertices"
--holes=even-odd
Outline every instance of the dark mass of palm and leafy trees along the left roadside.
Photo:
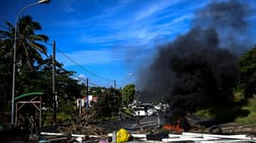
[[[46,42],[49,37],[43,34],[37,34],[41,29],[40,23],[33,21],[31,16],[25,15],[17,23],[16,40],[16,75],[15,75],[15,93],[17,97],[24,93],[43,92],[43,122],[51,124],[54,111],[54,93],[52,90],[52,56],[47,53]],[[12,100],[12,81],[13,81],[13,47],[15,27],[11,22],[6,21],[3,29],[0,29],[0,122],[11,121],[11,100]],[[87,88],[84,83],[75,79],[75,71],[67,71],[62,63],[55,63],[56,68],[56,92],[57,92],[57,119],[71,119],[72,114],[77,114],[75,109],[75,99],[87,94]],[[88,94],[97,95],[102,102],[121,101],[119,92],[112,90],[104,92],[106,88],[90,87]],[[107,93],[107,94],[106,94]],[[103,96],[103,94],[105,94]],[[110,96],[108,96],[110,95]],[[114,98],[113,98],[114,97]],[[110,100],[107,100],[109,99]],[[110,105],[108,114],[117,112],[119,105]],[[101,107],[101,106],[98,106]],[[22,107],[23,113],[31,112],[31,106]],[[30,110],[26,110],[30,109]],[[21,111],[22,112],[22,111]]]

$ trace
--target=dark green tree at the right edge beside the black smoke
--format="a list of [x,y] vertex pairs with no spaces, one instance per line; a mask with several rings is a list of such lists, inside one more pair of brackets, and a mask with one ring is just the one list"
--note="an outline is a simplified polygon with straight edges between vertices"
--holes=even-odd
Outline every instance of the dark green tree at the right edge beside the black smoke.
[[239,86],[245,99],[256,93],[256,46],[239,59]]

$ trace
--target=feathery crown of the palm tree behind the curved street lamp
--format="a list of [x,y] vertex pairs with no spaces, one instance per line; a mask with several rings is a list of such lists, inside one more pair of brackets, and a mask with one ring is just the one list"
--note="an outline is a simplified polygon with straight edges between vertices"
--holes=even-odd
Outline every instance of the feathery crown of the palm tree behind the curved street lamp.
[[[14,26],[6,21],[5,30],[0,30],[0,38],[4,43],[10,45],[14,43]],[[33,21],[31,16],[23,16],[17,23],[17,45],[16,59],[20,65],[28,64],[30,67],[34,63],[43,61],[43,55],[47,55],[47,47],[42,42],[47,42],[49,38],[46,35],[36,34],[36,30],[40,30],[40,23]],[[13,47],[13,46],[12,46]]]

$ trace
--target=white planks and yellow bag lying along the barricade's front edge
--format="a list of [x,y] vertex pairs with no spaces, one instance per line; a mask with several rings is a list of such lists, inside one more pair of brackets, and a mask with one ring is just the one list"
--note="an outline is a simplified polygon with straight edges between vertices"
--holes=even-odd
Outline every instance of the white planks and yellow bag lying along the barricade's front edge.
[[[115,131],[114,131],[115,132]],[[116,133],[108,133],[108,137],[97,137],[92,139],[84,139],[84,135],[71,134],[70,136],[64,136],[63,133],[50,133],[43,132],[42,134],[51,136],[51,138],[40,139],[40,143],[55,142],[55,141],[65,141],[68,142],[97,142],[97,143],[109,143],[109,138],[112,135],[116,135],[116,143],[128,142],[256,142],[256,138],[248,137],[246,135],[219,135],[219,134],[203,134],[194,132],[182,132],[181,134],[159,132],[159,133],[149,133],[149,134],[130,134],[128,130],[120,129]],[[52,138],[55,136],[55,138]],[[94,136],[89,136],[94,137]],[[132,139],[132,140],[130,140]],[[91,141],[90,141],[91,140]],[[67,142],[67,141],[66,141]],[[114,140],[112,140],[115,143]]]

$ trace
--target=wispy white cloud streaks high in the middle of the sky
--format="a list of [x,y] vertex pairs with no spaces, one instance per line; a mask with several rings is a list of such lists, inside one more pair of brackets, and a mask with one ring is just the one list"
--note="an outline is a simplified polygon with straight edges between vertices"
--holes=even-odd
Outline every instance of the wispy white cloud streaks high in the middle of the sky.
[[[125,44],[128,42],[136,42],[138,45],[145,45],[154,38],[172,34],[173,28],[182,29],[177,26],[179,22],[192,18],[190,13],[179,13],[172,14],[171,18],[166,17],[168,18],[167,21],[155,23],[158,19],[162,19],[165,15],[169,14],[163,14],[163,11],[166,11],[167,8],[170,8],[170,6],[178,2],[180,1],[155,2],[157,4],[146,5],[146,8],[142,7],[136,12],[130,13],[127,17],[115,17],[115,19],[111,19],[111,21],[105,19],[105,17],[101,17],[102,20],[98,17],[100,19],[97,21],[103,22],[93,22],[93,25],[90,27],[90,30],[94,31],[93,35],[88,33],[83,34],[83,36],[79,38],[79,41],[82,43],[107,44],[112,46],[116,42],[123,42]],[[114,11],[121,13],[119,12],[119,8]],[[158,17],[159,13],[163,15]],[[109,31],[106,34],[99,33],[100,35],[97,35],[97,31],[101,31],[101,29],[108,29]]]

